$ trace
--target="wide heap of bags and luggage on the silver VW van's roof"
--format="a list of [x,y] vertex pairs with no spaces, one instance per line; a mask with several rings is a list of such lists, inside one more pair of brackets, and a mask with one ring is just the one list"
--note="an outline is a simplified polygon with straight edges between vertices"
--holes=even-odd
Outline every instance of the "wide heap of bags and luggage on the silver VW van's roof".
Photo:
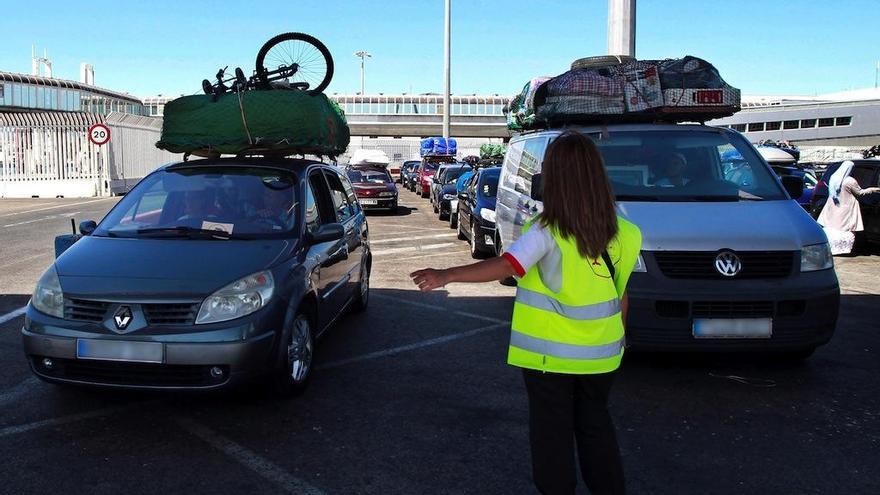
[[[597,61],[591,61],[597,62]],[[739,111],[740,92],[712,64],[686,56],[608,60],[529,81],[508,108],[513,131],[566,124],[706,121]]]

